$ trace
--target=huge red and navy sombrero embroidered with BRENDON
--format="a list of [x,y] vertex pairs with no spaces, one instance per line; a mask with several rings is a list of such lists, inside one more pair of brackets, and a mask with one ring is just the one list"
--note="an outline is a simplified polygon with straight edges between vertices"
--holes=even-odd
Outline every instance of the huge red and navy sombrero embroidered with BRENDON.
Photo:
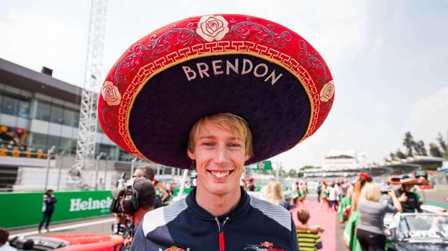
[[187,18],[146,35],[112,67],[98,101],[100,124],[142,159],[190,168],[188,131],[198,118],[233,113],[266,160],[312,135],[334,100],[331,73],[292,30],[262,18]]

